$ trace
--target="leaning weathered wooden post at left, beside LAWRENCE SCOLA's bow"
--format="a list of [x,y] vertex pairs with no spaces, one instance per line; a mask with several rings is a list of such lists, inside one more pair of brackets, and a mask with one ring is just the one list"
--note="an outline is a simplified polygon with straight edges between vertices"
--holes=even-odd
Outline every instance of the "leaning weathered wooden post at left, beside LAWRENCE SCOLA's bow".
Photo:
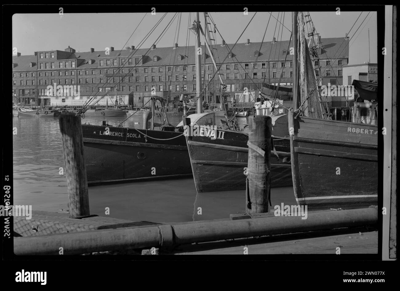
[[83,157],[80,116],[61,114],[59,118],[62,151],[67,177],[70,218],[90,216],[88,181]]

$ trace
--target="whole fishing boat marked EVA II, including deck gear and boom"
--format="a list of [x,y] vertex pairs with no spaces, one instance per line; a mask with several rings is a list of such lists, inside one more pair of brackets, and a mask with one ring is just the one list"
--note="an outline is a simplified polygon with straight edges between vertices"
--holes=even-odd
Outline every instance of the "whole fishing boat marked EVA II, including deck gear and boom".
[[[207,27],[204,31],[208,31]],[[202,33],[204,36],[204,32]],[[204,41],[214,67],[218,71],[219,68],[216,66],[214,54],[206,36],[204,36]],[[218,77],[221,86],[220,92],[224,96],[226,86],[224,86],[220,75]],[[216,138],[198,135],[186,136],[194,183],[198,192],[246,189],[248,134],[245,132],[245,128],[242,130],[238,128],[234,110],[232,110],[231,117],[225,108],[225,104],[220,103],[220,106],[222,109],[220,112],[226,118],[221,122],[227,128],[216,129]],[[282,116],[272,116],[273,124],[282,128],[282,122],[276,122],[280,118],[284,119]],[[184,126],[193,128],[189,120],[183,120],[183,122]],[[285,136],[288,136],[287,120],[286,132],[285,130],[276,131],[276,136],[274,134],[273,138],[278,156],[271,155],[272,187],[292,185],[290,142],[289,138]]]

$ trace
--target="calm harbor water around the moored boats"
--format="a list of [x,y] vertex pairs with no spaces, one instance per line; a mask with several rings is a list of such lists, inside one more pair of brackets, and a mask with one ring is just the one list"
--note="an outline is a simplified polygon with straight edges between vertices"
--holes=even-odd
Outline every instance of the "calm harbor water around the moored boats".
[[[82,123],[101,125],[106,120],[116,126],[125,118],[84,118]],[[168,119],[177,125],[181,117]],[[15,117],[12,122],[18,129],[18,134],[12,136],[14,204],[32,205],[32,211],[68,208],[65,171],[64,175],[59,174],[64,159],[58,120]],[[243,127],[246,118],[238,118],[238,124]],[[142,128],[142,113],[129,118],[123,126]],[[89,187],[90,213],[105,216],[104,208],[110,207],[110,217],[180,222],[228,218],[246,208],[244,190],[196,194],[191,178],[93,186]],[[272,188],[271,194],[272,205],[296,204],[292,187]],[[198,207],[202,208],[202,215],[197,214]]]

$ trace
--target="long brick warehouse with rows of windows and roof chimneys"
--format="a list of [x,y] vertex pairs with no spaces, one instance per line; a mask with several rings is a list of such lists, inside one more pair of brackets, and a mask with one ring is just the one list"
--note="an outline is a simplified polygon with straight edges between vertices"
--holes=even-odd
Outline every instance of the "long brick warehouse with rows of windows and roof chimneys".
[[[328,82],[342,84],[342,67],[348,64],[348,38],[345,40],[344,38],[322,38],[320,42],[324,49],[322,47],[318,49],[320,61],[319,63],[316,61],[316,65],[321,66],[321,72],[324,72],[328,66],[329,59],[333,56],[335,58],[340,56],[334,60],[332,68],[329,69],[322,84],[328,84]],[[246,43],[236,44],[232,52],[229,48],[232,48],[233,44],[213,46],[217,64],[228,54],[220,74],[225,84],[228,85],[226,94],[230,97],[234,98],[235,92],[243,92],[245,87],[255,90],[258,94],[257,87],[262,88],[265,74],[265,82],[277,84],[283,71],[280,84],[282,86],[292,85],[293,62],[292,55],[287,50],[288,40],[264,42],[261,49],[260,46],[260,42],[250,42],[250,40],[247,40]],[[290,44],[291,46],[292,44]],[[285,57],[286,64],[283,66]],[[127,59],[128,61],[126,61]],[[164,94],[170,90],[171,95],[184,93],[190,98],[194,98],[196,95],[194,46],[178,47],[178,44],[175,44],[172,48],[156,48],[154,45],[150,50],[148,48],[135,49],[132,46],[121,51],[110,47],[109,54],[106,54],[106,51],[95,51],[94,48],[90,48],[89,52],[76,52],[68,46],[64,51],[40,51],[28,56],[18,53],[13,56],[12,60],[14,103],[49,104],[50,98],[46,95],[46,88],[54,83],[62,86],[79,85],[80,92],[82,92],[80,98],[88,98],[90,92],[93,92],[93,95],[96,94],[107,80],[110,84],[104,89],[109,89],[111,94],[115,94],[115,92],[112,93],[115,89],[124,92],[149,91],[150,93],[152,88],[155,88],[156,92],[164,92]],[[122,66],[124,62],[126,62],[125,66],[118,72],[118,67]],[[114,73],[116,75],[112,77]],[[214,73],[211,57],[203,45],[203,82],[204,74],[207,84],[207,80]],[[99,82],[101,83],[99,84]],[[218,76],[215,76],[212,82],[214,85],[217,84],[215,91],[218,92]],[[206,89],[214,90],[212,86]],[[206,94],[206,101],[209,103],[219,102],[218,98],[213,97],[212,94]]]

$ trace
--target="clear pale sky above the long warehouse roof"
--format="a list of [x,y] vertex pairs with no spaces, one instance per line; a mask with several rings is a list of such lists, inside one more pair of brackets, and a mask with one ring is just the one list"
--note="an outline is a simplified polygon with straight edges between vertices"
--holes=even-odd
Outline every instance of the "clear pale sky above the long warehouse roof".
[[[368,62],[369,58],[371,63],[377,62],[376,12],[369,14],[362,12],[361,16],[360,13],[340,12],[340,15],[337,15],[335,11],[310,12],[316,31],[322,38],[344,38],[346,33],[350,31],[348,34],[351,38],[350,65],[363,64]],[[250,42],[261,42],[266,27],[264,42],[271,41],[274,33],[276,40],[280,40],[282,26],[275,18],[278,18],[286,26],[286,28],[283,28],[282,40],[290,38],[291,12],[272,12],[270,14],[270,12],[249,11],[248,15],[244,15],[243,12],[210,12],[209,15],[228,44],[233,44],[236,41],[244,43],[248,38]],[[111,46],[114,47],[114,50],[121,50],[131,45],[137,47],[163,16],[164,13],[161,12],[156,12],[156,15],[151,13],[14,14],[12,18],[12,47],[17,48],[17,51],[22,55],[33,55],[35,51],[64,50],[68,46],[74,48],[76,52],[88,52],[90,48],[104,50]],[[254,18],[251,20],[253,16]],[[358,16],[360,18],[356,22]],[[175,18],[173,17],[174,13],[167,13],[140,48],[149,48],[162,34],[163,30],[168,27],[171,20],[171,25],[158,40],[156,46],[170,47],[175,42],[178,42],[179,46],[184,46],[188,40],[188,27],[194,19],[194,14],[183,12]],[[269,22],[268,19],[270,19]],[[352,28],[354,22],[356,24]],[[204,28],[204,13],[200,13],[200,24]],[[278,34],[279,26],[281,30]],[[212,25],[212,28],[214,28],[214,25]],[[238,40],[245,28],[246,30]],[[368,29],[370,56],[368,54]],[[189,45],[194,45],[194,34],[191,31],[189,31],[189,34]],[[217,36],[216,42],[218,44],[222,42],[220,36]],[[202,44],[204,44],[203,40]]]

